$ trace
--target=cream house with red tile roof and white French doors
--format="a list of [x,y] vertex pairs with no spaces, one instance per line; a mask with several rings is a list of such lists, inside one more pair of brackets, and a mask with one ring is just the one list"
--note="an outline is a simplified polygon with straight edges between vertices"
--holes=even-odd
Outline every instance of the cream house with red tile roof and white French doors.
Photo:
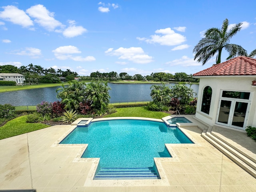
[[242,132],[256,127],[256,59],[232,58],[193,77],[200,78],[197,119]]

